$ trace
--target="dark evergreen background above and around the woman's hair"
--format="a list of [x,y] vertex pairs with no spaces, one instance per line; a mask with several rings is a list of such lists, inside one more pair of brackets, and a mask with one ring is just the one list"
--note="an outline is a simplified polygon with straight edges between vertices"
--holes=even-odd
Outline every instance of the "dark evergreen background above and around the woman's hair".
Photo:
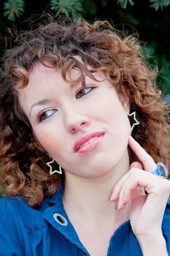
[[170,0],[0,0],[0,49],[5,49],[6,29],[28,29],[28,19],[42,12],[53,15],[108,20],[128,34],[139,34],[151,64],[159,67],[157,85],[170,103]]

